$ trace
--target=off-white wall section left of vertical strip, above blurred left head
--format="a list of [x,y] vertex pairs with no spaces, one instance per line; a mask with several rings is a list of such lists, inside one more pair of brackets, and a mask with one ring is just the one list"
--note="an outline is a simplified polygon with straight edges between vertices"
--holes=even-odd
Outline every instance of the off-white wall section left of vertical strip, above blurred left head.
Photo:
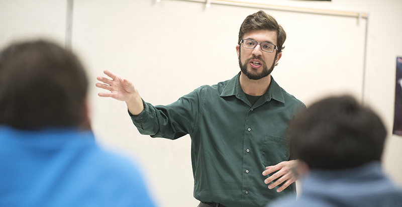
[[18,39],[65,40],[66,1],[0,0],[0,46]]

